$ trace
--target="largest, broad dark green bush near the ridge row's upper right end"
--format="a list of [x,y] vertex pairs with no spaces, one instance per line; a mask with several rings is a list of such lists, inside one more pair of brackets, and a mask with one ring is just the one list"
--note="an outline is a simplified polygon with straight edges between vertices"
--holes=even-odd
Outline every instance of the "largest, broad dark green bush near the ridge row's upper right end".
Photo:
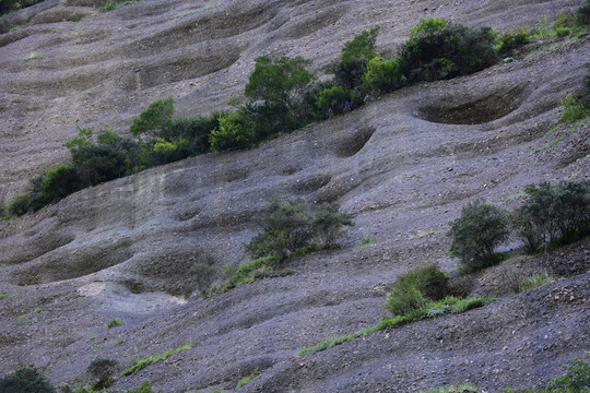
[[411,29],[398,50],[401,70],[409,82],[437,81],[467,75],[494,64],[494,32],[429,17]]

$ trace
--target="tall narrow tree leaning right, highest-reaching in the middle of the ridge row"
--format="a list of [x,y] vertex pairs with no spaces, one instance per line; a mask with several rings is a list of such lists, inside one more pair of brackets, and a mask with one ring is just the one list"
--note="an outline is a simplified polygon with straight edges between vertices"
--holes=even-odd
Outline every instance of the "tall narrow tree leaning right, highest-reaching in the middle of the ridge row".
[[334,80],[346,90],[361,86],[363,75],[367,73],[369,61],[377,57],[375,44],[379,26],[364,31],[344,44],[339,64],[334,69]]

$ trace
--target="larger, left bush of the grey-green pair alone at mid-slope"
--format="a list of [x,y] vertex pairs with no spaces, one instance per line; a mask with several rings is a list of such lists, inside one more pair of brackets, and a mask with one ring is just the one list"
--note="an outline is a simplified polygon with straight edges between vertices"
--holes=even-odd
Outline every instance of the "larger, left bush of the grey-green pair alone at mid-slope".
[[285,259],[314,238],[312,216],[300,199],[272,198],[255,216],[255,222],[262,231],[246,245],[246,252],[253,258]]

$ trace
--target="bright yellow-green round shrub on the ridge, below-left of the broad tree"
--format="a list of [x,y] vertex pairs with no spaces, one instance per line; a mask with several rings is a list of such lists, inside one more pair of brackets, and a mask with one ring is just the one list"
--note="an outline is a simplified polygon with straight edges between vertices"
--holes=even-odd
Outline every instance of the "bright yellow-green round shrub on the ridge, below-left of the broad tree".
[[219,128],[211,131],[209,142],[214,152],[244,148],[252,143],[252,130],[239,114],[220,116]]

